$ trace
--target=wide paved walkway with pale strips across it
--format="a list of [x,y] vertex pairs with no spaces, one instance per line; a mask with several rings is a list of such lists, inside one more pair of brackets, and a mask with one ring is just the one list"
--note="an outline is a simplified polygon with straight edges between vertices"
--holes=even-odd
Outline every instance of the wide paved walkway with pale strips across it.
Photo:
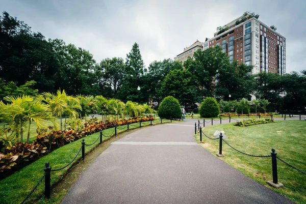
[[113,142],[62,203],[293,203],[200,147],[195,122],[143,128]]

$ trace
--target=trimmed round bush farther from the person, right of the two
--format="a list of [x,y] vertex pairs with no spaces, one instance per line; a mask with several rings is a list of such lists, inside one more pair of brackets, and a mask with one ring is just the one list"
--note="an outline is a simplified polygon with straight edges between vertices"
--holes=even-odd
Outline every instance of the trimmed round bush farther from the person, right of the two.
[[201,103],[199,109],[200,116],[203,118],[212,118],[218,116],[220,113],[220,106],[216,99],[212,97],[207,97]]

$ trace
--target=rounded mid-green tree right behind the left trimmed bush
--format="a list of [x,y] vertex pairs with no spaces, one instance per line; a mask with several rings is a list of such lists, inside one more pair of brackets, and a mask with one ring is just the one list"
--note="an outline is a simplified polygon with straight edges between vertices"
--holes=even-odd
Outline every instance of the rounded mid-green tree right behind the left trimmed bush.
[[162,83],[161,93],[163,97],[173,96],[185,106],[201,101],[195,77],[188,70],[172,70]]

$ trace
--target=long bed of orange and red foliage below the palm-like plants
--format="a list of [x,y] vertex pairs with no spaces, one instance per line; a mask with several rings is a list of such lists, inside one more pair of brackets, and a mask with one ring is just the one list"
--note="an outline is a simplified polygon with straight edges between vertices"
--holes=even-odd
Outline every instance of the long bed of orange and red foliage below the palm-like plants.
[[107,121],[106,123],[101,121],[98,122],[97,119],[92,119],[84,124],[84,128],[81,131],[50,129],[48,133],[44,132],[36,135],[36,139],[32,143],[17,142],[15,144],[10,143],[6,147],[3,147],[3,142],[0,142],[0,180],[36,161],[43,155],[82,137],[115,126],[123,126],[127,123],[139,123],[140,121],[146,122],[150,120],[155,120],[155,118],[148,116],[147,118],[123,119]]

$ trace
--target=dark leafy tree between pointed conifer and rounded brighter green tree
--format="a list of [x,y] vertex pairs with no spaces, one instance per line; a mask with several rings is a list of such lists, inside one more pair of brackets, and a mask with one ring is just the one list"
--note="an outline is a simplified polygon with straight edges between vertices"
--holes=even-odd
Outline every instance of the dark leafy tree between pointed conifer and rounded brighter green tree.
[[149,83],[149,97],[152,101],[158,102],[158,104],[161,102],[162,83],[172,70],[183,70],[181,62],[165,59],[163,61],[154,61],[149,65],[146,82]]

